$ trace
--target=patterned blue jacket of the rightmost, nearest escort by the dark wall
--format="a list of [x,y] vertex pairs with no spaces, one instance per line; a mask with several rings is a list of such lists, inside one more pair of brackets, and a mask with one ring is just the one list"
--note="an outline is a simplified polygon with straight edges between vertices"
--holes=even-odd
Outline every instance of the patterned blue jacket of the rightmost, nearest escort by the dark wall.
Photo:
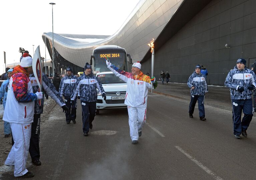
[[[248,89],[249,85],[255,85],[256,76],[255,73],[244,68],[243,70],[238,70],[237,66],[230,70],[228,76],[225,80],[225,86],[229,87],[231,99],[251,99],[252,91]],[[241,86],[244,91],[240,93],[237,89]]]

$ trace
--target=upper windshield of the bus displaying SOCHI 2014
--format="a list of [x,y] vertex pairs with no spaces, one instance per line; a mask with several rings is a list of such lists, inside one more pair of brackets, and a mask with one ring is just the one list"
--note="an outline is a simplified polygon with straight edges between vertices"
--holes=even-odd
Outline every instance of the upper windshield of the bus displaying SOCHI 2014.
[[126,54],[124,52],[106,52],[106,53],[94,53],[94,74],[98,72],[110,71],[107,68],[105,57],[116,67],[121,70],[126,70]]

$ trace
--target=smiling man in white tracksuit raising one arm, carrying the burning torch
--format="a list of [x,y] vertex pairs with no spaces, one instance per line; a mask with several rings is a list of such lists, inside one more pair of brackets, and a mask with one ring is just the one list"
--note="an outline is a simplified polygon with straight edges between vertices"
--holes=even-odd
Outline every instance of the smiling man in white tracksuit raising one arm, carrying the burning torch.
[[148,89],[151,89],[152,84],[155,89],[157,81],[155,81],[155,77],[150,78],[143,74],[140,62],[133,63],[132,73],[117,68],[109,62],[109,59],[106,59],[106,64],[117,77],[127,83],[124,104],[128,109],[132,144],[137,144],[146,123]]

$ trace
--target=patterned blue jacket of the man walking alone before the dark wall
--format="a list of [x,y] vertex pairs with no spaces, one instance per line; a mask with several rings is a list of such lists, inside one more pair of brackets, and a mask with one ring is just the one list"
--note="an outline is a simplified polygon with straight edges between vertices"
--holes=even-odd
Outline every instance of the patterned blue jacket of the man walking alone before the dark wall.
[[[191,74],[188,80],[188,86],[190,88],[190,93],[192,95],[198,95],[198,96],[204,96],[206,92],[208,92],[207,88],[207,82],[205,80],[204,74],[197,74],[196,71]],[[192,86],[195,87],[195,89],[191,89]]]

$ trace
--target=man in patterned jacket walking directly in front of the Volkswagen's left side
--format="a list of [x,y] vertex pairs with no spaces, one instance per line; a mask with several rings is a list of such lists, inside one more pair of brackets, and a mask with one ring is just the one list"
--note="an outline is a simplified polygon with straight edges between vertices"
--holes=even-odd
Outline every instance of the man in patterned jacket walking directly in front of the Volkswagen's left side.
[[89,129],[92,129],[92,121],[96,115],[97,89],[106,100],[105,91],[99,79],[93,75],[91,65],[86,62],[84,74],[77,79],[74,92],[71,95],[71,105],[73,105],[79,91],[84,136],[88,136]]

